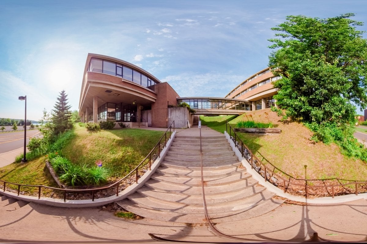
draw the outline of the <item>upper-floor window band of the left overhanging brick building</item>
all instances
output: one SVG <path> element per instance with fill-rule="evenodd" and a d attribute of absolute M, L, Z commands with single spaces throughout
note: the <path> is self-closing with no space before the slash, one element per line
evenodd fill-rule
<path fill-rule="evenodd" d="M 158 83 L 133 68 L 104 59 L 92 58 L 89 63 L 88 71 L 119 76 L 153 91 L 154 85 Z"/>

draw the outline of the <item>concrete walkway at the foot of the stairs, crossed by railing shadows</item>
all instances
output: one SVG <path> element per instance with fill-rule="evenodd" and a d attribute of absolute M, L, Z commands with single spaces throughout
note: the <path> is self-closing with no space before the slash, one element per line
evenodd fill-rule
<path fill-rule="evenodd" d="M 366 203 L 283 204 L 259 217 L 217 224 L 216 228 L 227 235 L 254 240 L 306 240 L 317 232 L 327 240 L 366 241 Z M 159 243 L 148 233 L 172 240 L 236 242 L 214 236 L 206 224 L 124 220 L 98 208 L 70 209 L 37 203 L 19 208 L 14 204 L 5 202 L 0 207 L 0 243 Z"/>

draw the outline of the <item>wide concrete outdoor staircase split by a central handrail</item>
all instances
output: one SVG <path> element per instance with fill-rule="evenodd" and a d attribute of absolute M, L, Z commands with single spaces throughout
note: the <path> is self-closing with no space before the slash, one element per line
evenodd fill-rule
<path fill-rule="evenodd" d="M 202 138 L 204 189 L 213 222 L 257 217 L 283 200 L 252 179 L 225 136 Z M 205 222 L 200 170 L 200 138 L 177 135 L 164 161 L 149 181 L 127 199 L 124 209 L 163 221 Z"/>

